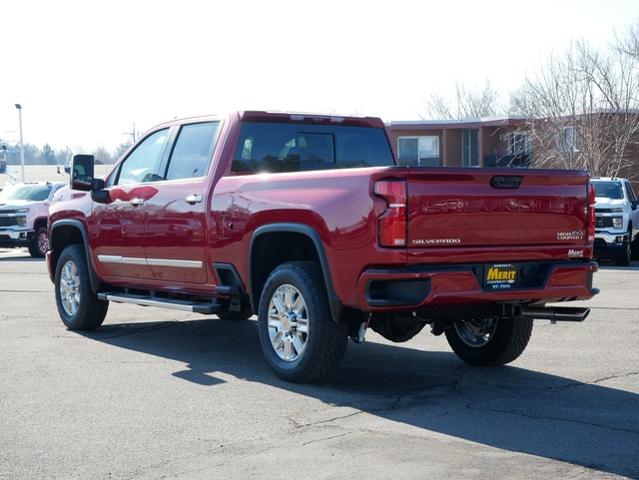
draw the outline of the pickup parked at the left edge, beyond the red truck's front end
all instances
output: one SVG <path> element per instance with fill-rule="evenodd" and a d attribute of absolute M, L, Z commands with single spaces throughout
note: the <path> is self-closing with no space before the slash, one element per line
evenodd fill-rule
<path fill-rule="evenodd" d="M 49 205 L 64 185 L 38 182 L 6 186 L 0 192 L 0 247 L 28 247 L 32 257 L 44 257 Z"/>

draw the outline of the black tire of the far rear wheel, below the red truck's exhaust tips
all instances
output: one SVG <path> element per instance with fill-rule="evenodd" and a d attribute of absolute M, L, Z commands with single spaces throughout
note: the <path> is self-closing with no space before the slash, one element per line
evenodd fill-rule
<path fill-rule="evenodd" d="M 505 365 L 518 358 L 528 345 L 532 319 L 498 319 L 495 332 L 483 346 L 470 346 L 457 329 L 446 330 L 448 344 L 464 362 L 477 366 Z"/>

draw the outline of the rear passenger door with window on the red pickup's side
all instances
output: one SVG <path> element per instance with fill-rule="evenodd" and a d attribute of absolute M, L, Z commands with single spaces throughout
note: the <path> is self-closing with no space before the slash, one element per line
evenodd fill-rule
<path fill-rule="evenodd" d="M 207 278 L 206 240 L 209 170 L 219 122 L 179 126 L 165 181 L 146 202 L 146 258 L 156 279 L 214 285 Z M 171 283 L 172 282 L 172 283 Z"/>

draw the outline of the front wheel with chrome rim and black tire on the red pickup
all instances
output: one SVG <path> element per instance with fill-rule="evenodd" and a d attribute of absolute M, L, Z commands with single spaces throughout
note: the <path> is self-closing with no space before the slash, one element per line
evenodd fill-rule
<path fill-rule="evenodd" d="M 55 302 L 60 319 L 69 330 L 95 330 L 104 321 L 109 302 L 99 300 L 93 293 L 81 245 L 69 245 L 58 258 Z"/>

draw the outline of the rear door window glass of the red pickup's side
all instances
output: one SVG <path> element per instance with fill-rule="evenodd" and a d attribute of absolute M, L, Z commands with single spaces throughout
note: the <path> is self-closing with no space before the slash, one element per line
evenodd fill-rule
<path fill-rule="evenodd" d="M 206 175 L 213 155 L 218 126 L 219 122 L 182 126 L 169 160 L 167 180 Z"/>

